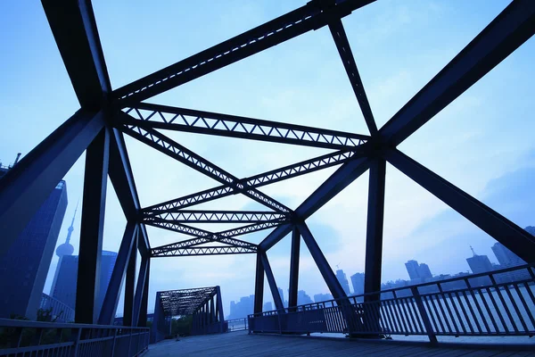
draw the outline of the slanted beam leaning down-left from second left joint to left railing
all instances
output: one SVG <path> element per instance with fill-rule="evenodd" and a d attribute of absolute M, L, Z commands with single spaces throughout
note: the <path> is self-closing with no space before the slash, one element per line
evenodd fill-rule
<path fill-rule="evenodd" d="M 99 325 L 113 325 L 115 318 L 115 311 L 117 311 L 117 304 L 119 303 L 120 290 L 127 272 L 128 261 L 130 260 L 130 253 L 137 235 L 136 221 L 128 221 L 125 233 L 122 237 L 119 247 L 119 254 L 111 273 L 110 284 L 104 296 L 103 308 L 98 318 Z"/>

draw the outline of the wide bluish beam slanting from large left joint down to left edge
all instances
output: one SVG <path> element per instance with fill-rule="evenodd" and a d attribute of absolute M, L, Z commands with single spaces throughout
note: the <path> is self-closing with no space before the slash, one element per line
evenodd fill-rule
<path fill-rule="evenodd" d="M 103 112 L 79 110 L 5 173 L 0 185 L 0 256 L 103 128 Z"/>

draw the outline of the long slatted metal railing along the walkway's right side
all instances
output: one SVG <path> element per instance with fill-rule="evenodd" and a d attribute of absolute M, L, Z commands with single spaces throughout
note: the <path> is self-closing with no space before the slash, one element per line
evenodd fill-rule
<path fill-rule="evenodd" d="M 249 330 L 426 335 L 432 342 L 436 336 L 534 336 L 534 266 L 253 314 Z"/>

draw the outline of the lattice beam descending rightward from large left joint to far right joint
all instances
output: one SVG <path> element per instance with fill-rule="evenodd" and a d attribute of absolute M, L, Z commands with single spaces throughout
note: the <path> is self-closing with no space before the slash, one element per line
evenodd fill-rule
<path fill-rule="evenodd" d="M 123 113 L 122 115 L 126 114 Z M 239 190 L 240 193 L 250 197 L 254 201 L 262 203 L 278 212 L 291 212 L 291 210 L 284 206 L 283 203 L 279 203 L 268 195 L 264 195 L 256 188 L 243 185 L 239 179 L 226 172 L 226 170 L 219 168 L 217 165 L 202 158 L 200 155 L 194 154 L 191 150 L 186 149 L 184 146 L 178 144 L 171 138 L 166 137 L 154 129 L 146 129 L 130 125 L 121 126 L 120 129 L 129 136 L 136 138 L 137 140 L 151 146 L 163 154 L 169 155 L 177 161 L 191 167 L 193 170 L 202 172 L 203 174 L 221 182 L 226 186 L 234 187 L 236 190 Z"/>

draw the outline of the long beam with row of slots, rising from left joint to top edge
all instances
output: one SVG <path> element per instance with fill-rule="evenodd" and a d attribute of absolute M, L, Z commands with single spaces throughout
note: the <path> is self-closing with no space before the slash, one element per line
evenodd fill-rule
<path fill-rule="evenodd" d="M 340 19 L 373 2 L 374 0 L 339 0 L 325 11 L 322 1 L 310 1 L 275 20 L 120 87 L 113 91 L 113 95 L 123 107 L 139 103 L 309 30 L 319 29 L 331 19 Z"/>

